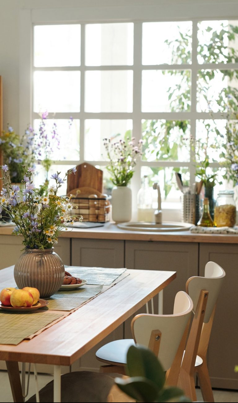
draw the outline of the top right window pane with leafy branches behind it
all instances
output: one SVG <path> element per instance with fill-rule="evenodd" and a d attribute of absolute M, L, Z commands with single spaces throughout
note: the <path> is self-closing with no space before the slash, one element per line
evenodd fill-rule
<path fill-rule="evenodd" d="M 197 37 L 200 64 L 238 62 L 238 21 L 202 21 Z"/>

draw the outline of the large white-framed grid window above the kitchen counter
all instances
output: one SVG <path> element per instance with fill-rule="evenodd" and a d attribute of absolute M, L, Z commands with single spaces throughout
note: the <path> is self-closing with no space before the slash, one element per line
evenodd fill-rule
<path fill-rule="evenodd" d="M 162 208 L 179 208 L 174 172 L 195 182 L 195 158 L 203 158 L 197 145 L 206 143 L 208 129 L 210 166 L 219 166 L 222 138 L 215 128 L 224 130 L 227 89 L 237 86 L 232 26 L 238 21 L 35 24 L 32 119 L 37 128 L 39 112 L 47 110 L 47 124 L 57 123 L 51 172 L 88 161 L 103 169 L 110 193 L 103 139 L 132 135 L 144 140 L 133 193 L 147 174 L 150 184 L 160 183 Z"/>

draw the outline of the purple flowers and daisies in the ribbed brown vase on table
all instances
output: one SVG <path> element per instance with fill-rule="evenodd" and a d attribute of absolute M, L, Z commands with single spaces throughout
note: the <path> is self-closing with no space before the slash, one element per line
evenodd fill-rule
<path fill-rule="evenodd" d="M 25 170 L 22 183 L 25 185 L 23 195 L 19 195 L 20 188 L 11 185 L 9 168 L 0 166 L 4 187 L 0 197 L 0 212 L 8 212 L 12 221 L 16 224 L 13 230 L 15 235 L 23 235 L 23 245 L 31 249 L 48 249 L 57 243 L 59 232 L 65 228 L 66 223 L 73 224 L 75 216 L 70 215 L 73 207 L 71 197 L 57 196 L 57 190 L 66 180 L 68 174 L 76 172 L 72 168 L 66 173 L 64 179 L 59 177 L 60 172 L 53 174 L 55 185 L 49 189 L 49 195 L 40 197 L 35 193 L 35 185 L 31 180 L 33 168 Z M 77 208 L 75 206 L 75 208 Z M 78 217 L 82 220 L 82 216 Z"/>

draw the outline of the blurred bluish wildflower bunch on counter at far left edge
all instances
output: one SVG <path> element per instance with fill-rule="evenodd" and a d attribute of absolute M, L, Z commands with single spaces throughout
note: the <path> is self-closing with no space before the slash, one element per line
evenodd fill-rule
<path fill-rule="evenodd" d="M 8 125 L 7 131 L 3 131 L 0 137 L 0 150 L 9 169 L 10 181 L 20 183 L 24 176 L 23 165 L 32 166 L 35 159 L 33 129 L 29 126 L 20 137 Z"/>

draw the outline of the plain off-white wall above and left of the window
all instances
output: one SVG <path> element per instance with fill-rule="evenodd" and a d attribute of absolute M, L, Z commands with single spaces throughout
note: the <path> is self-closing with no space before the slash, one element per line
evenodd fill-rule
<path fill-rule="evenodd" d="M 0 0 L 0 75 L 3 79 L 3 125 L 10 123 L 19 129 L 19 41 L 21 10 L 31 10 L 32 21 L 36 18 L 51 21 L 55 14 L 72 19 L 77 10 L 88 21 L 108 21 L 110 18 L 130 20 L 136 18 L 158 19 L 189 16 L 213 18 L 238 18 L 238 0 Z M 56 10 L 55 10 L 56 9 Z M 58 11 L 58 12 L 57 12 Z M 57 18 L 57 17 L 56 17 Z M 29 87 L 25 90 L 28 91 Z M 27 95 L 27 98 L 29 96 Z M 29 111 L 30 118 L 30 111 Z M 25 122 L 24 126 L 26 127 Z"/>

